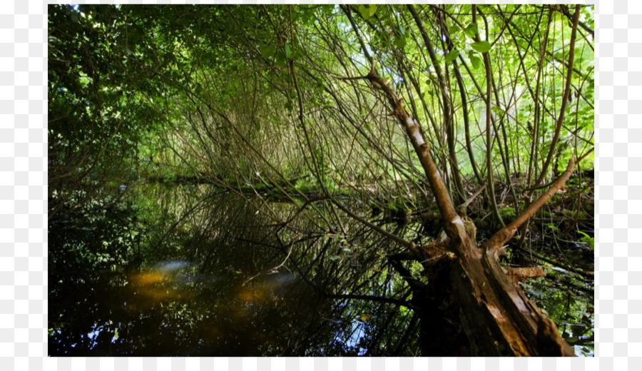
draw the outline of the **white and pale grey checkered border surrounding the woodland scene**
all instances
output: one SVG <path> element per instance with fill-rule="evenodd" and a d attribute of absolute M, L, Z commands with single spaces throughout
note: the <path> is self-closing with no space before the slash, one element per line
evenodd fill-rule
<path fill-rule="evenodd" d="M 147 4 L 161 2 L 186 1 Z M 578 359 L 47 357 L 46 12 L 41 1 L 0 3 L 0 370 L 628 370 L 642 360 L 642 1 L 596 3 L 597 357 Z"/>

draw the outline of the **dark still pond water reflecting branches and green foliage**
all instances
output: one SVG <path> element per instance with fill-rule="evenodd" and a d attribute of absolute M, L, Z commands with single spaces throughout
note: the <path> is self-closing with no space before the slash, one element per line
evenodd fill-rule
<path fill-rule="evenodd" d="M 394 302 L 409 300 L 384 258 L 394 245 L 349 218 L 330 230 L 322 203 L 262 202 L 148 185 L 58 213 L 49 355 L 419 355 L 418 318 Z M 426 232 L 385 221 L 407 238 Z M 419 277 L 418 264 L 408 268 Z M 569 322 L 569 338 L 592 340 L 592 295 L 546 281 L 528 290 Z M 578 354 L 591 354 L 589 342 Z"/>

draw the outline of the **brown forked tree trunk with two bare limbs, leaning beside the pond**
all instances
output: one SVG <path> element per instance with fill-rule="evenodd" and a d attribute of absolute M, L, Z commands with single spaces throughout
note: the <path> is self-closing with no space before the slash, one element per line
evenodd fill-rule
<path fill-rule="evenodd" d="M 364 78 L 384 92 L 392 114 L 406 129 L 437 199 L 448 236 L 442 244 L 413 244 L 411 248 L 429 279 L 429 285 L 414 288 L 413 295 L 422 319 L 424 355 L 574 355 L 555 324 L 511 283 L 498 263 L 504 243 L 564 185 L 573 172 L 574 161 L 522 215 L 478 247 L 455 211 L 429 145 L 419 125 L 404 110 L 402 99 L 378 75 L 374 61 Z"/>

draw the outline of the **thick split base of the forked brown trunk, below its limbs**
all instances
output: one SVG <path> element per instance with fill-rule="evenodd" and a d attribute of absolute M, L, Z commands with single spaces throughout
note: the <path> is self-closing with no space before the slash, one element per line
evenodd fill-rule
<path fill-rule="evenodd" d="M 454 248 L 454 246 L 449 246 Z M 472 240 L 466 253 L 424 264 L 429 285 L 417 303 L 422 355 L 573 356 L 571 347 L 504 273 L 491 250 Z"/>

